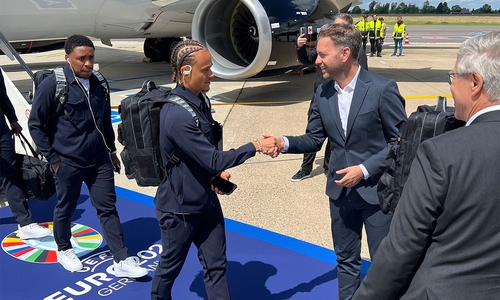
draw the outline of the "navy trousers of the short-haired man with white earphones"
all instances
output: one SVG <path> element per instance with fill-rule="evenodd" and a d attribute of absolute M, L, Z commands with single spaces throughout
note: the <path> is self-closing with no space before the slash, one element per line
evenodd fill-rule
<path fill-rule="evenodd" d="M 89 189 L 90 201 L 97 211 L 104 239 L 116 262 L 128 257 L 120 217 L 116 210 L 115 177 L 111 163 L 77 168 L 61 162 L 56 180 L 57 204 L 54 209 L 54 239 L 59 251 L 72 248 L 71 218 L 80 198 L 82 182 Z"/>

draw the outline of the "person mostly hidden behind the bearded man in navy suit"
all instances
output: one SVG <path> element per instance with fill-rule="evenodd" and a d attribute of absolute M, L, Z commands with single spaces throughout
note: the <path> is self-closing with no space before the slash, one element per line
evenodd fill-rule
<path fill-rule="evenodd" d="M 335 24 L 352 25 L 352 22 L 353 22 L 352 17 L 346 13 L 338 14 L 333 20 L 333 23 Z M 318 57 L 318 51 L 316 47 L 306 50 L 306 47 L 304 47 L 306 43 L 307 43 L 307 38 L 305 37 L 305 34 L 302 34 L 297 38 L 297 57 L 299 58 L 299 61 L 301 63 L 309 65 L 313 64 L 316 61 L 316 58 Z M 366 53 L 363 48 L 359 49 L 358 64 L 365 70 L 368 70 L 368 59 L 366 58 Z M 328 78 L 323 78 L 321 69 L 319 68 L 319 66 L 316 66 L 316 80 L 314 82 L 314 93 L 316 93 L 316 90 L 318 89 L 318 86 L 320 84 L 328 80 L 329 80 Z M 308 118 L 311 115 L 311 107 L 313 104 L 314 104 L 314 94 L 313 97 L 311 98 L 311 104 L 309 105 L 309 110 L 307 111 Z M 328 163 L 330 162 L 331 151 L 329 145 L 330 144 L 326 145 L 325 158 L 323 160 L 323 169 L 325 170 L 324 171 L 325 175 L 328 173 Z M 300 166 L 299 171 L 297 171 L 297 173 L 295 173 L 295 175 L 292 176 L 292 181 L 294 182 L 301 181 L 302 179 L 311 176 L 315 158 L 316 158 L 315 152 L 304 154 L 304 158 L 302 159 L 302 165 Z"/>

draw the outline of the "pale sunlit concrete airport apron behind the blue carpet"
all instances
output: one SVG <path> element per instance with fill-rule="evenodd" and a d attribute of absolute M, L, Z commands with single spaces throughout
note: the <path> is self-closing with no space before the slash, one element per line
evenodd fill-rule
<path fill-rule="evenodd" d="M 96 63 L 109 80 L 115 108 L 126 95 L 137 92 L 145 79 L 173 86 L 169 64 L 142 62 L 142 41 L 113 41 L 113 49 L 95 42 Z M 446 73 L 454 66 L 458 47 L 459 43 L 409 44 L 404 45 L 402 57 L 391 57 L 392 45 L 386 44 L 382 57 L 368 58 L 369 70 L 396 80 L 410 114 L 418 105 L 435 104 L 438 96 L 451 98 Z M 33 71 L 64 62 L 62 50 L 22 57 Z M 17 62 L 0 56 L 0 65 L 23 95 L 31 90 L 31 80 Z M 303 134 L 315 76 L 294 67 L 241 81 L 215 78 L 208 95 L 214 118 L 224 126 L 224 149 L 237 148 L 265 133 Z M 453 105 L 451 99 L 448 105 Z M 116 146 L 120 152 L 118 141 Z M 333 249 L 323 153 L 316 156 L 312 177 L 300 182 L 290 181 L 302 162 L 297 154 L 275 159 L 257 154 L 228 170 L 238 188 L 220 197 L 225 217 Z M 138 187 L 123 172 L 115 179 L 119 187 L 155 195 L 155 187 Z M 362 257 L 369 260 L 365 241 Z"/>

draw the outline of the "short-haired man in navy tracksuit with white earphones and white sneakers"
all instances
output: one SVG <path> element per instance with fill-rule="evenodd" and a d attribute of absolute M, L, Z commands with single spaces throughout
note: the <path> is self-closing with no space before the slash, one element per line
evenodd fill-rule
<path fill-rule="evenodd" d="M 56 82 L 50 75 L 35 92 L 28 121 L 31 136 L 51 164 L 56 180 L 53 229 L 58 262 L 68 271 L 83 268 L 71 243 L 71 218 L 85 182 L 114 258 L 115 276 L 142 277 L 148 271 L 138 266 L 137 257 L 129 257 L 116 210 L 113 166 L 119 168 L 120 161 L 109 94 L 92 73 L 94 45 L 85 36 L 73 35 L 66 40 L 65 52 L 67 102 L 63 110 L 57 112 Z"/>

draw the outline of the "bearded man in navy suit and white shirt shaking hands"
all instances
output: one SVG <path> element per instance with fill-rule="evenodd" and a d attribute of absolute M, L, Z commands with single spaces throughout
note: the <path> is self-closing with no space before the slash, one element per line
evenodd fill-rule
<path fill-rule="evenodd" d="M 341 300 L 351 299 L 359 285 L 363 224 L 372 258 L 389 232 L 391 216 L 380 211 L 376 187 L 396 124 L 406 120 L 396 82 L 361 68 L 360 47 L 361 33 L 351 25 L 321 28 L 316 65 L 333 80 L 318 87 L 306 134 L 275 136 L 278 151 L 287 153 L 315 152 L 329 139 L 326 194 Z"/>

